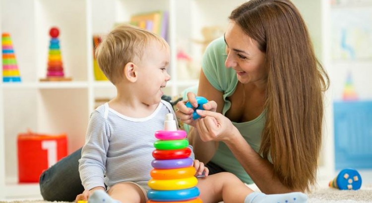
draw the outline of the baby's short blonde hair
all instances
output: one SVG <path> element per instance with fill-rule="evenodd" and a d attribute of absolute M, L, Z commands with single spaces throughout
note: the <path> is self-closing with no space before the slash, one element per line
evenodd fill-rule
<path fill-rule="evenodd" d="M 162 37 L 152 32 L 131 25 L 119 25 L 97 47 L 95 54 L 98 65 L 106 77 L 115 84 L 123 77 L 125 64 L 141 60 L 146 46 L 152 40 L 168 47 Z"/>

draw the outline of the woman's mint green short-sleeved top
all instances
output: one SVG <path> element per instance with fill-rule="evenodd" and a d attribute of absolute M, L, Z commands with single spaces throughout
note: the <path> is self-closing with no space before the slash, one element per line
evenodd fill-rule
<path fill-rule="evenodd" d="M 228 97 L 234 93 L 238 84 L 235 70 L 225 67 L 226 58 L 226 44 L 224 38 L 221 37 L 210 43 L 202 60 L 202 69 L 205 77 L 214 88 L 223 92 L 223 99 L 225 101 L 222 109 L 223 115 L 225 115 L 231 107 L 231 102 L 228 100 Z M 265 114 L 264 110 L 258 117 L 251 121 L 243 123 L 233 122 L 234 126 L 237 127 L 244 139 L 256 152 L 259 151 L 261 143 L 261 132 L 266 121 Z M 226 171 L 235 174 L 243 182 L 248 184 L 253 183 L 252 179 L 248 176 L 247 172 L 225 143 L 219 143 L 218 150 L 211 161 L 221 166 Z"/>

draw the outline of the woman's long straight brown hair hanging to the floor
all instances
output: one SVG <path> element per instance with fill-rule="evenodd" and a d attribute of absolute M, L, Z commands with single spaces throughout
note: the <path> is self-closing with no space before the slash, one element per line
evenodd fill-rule
<path fill-rule="evenodd" d="M 329 78 L 316 59 L 309 33 L 289 0 L 250 0 L 230 20 L 266 53 L 266 124 L 260 153 L 291 189 L 315 184 L 321 147 L 323 91 Z"/>

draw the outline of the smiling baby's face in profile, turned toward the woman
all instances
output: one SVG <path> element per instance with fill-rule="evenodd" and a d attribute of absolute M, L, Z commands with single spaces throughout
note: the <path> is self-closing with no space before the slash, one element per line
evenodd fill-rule
<path fill-rule="evenodd" d="M 159 103 L 163 96 L 162 89 L 171 79 L 167 69 L 169 67 L 170 52 L 157 41 L 146 46 L 138 66 L 137 87 L 141 101 L 150 105 Z"/>

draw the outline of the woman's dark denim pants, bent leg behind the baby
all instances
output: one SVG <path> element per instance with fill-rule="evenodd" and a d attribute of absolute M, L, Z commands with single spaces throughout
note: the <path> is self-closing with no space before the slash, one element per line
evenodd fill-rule
<path fill-rule="evenodd" d="M 77 195 L 84 191 L 79 175 L 81 148 L 64 157 L 45 170 L 40 176 L 40 193 L 46 201 L 74 202 Z M 208 162 L 209 174 L 224 172 L 215 163 Z"/>

